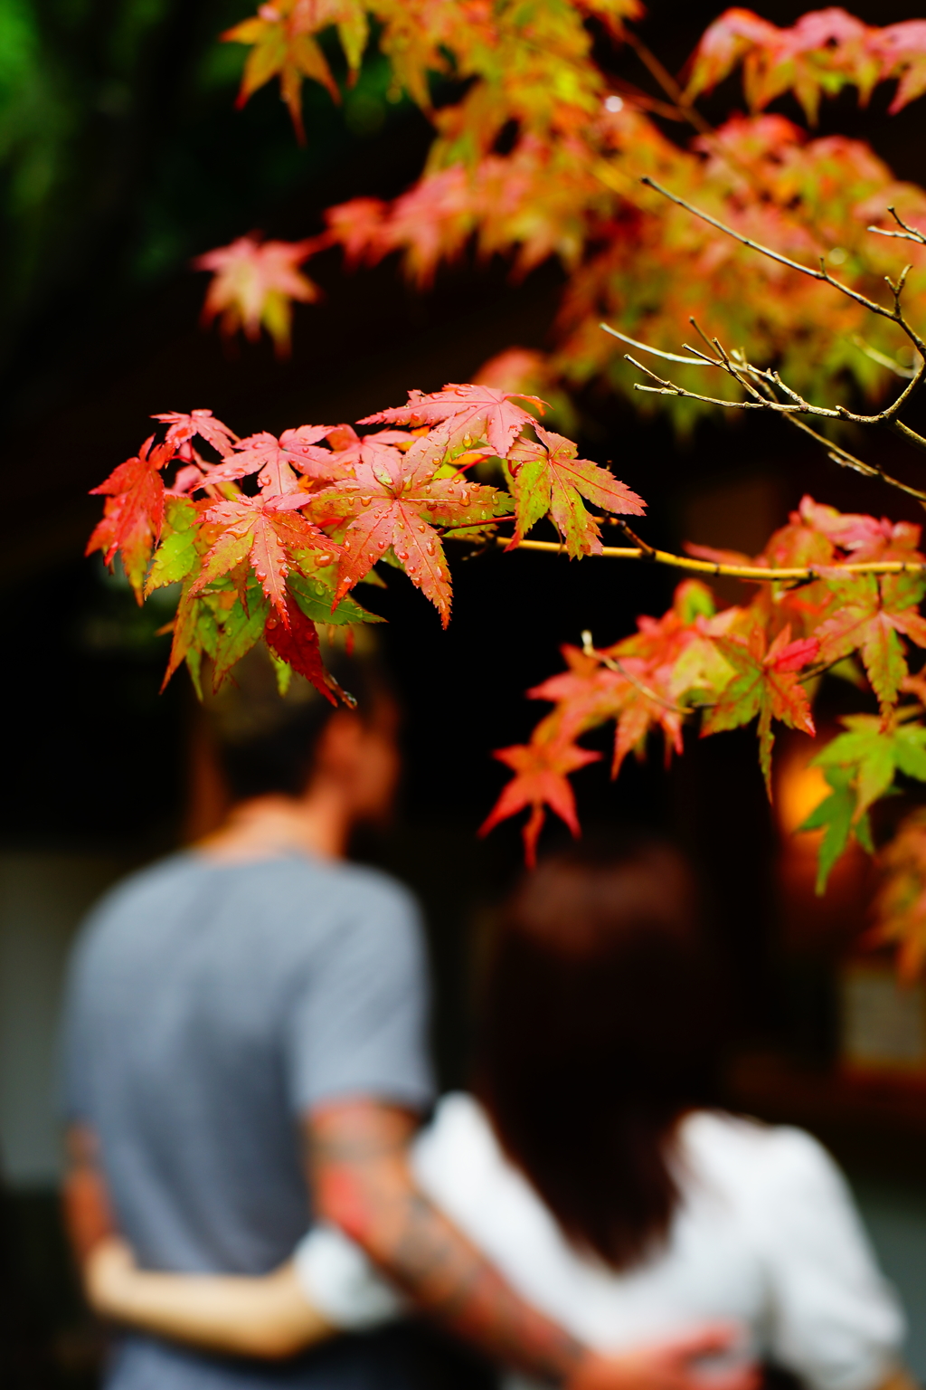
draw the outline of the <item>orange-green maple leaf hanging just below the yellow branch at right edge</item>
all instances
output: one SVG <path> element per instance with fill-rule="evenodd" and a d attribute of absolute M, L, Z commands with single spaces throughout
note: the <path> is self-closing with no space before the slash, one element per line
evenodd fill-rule
<path fill-rule="evenodd" d="M 890 589 L 889 589 L 890 594 Z M 898 632 L 918 646 L 926 646 L 926 619 L 915 602 L 907 607 L 884 606 L 884 589 L 873 574 L 844 581 L 837 591 L 837 606 L 818 631 L 820 660 L 832 664 L 859 651 L 872 689 L 882 710 L 887 712 L 907 676 L 907 657 Z"/>

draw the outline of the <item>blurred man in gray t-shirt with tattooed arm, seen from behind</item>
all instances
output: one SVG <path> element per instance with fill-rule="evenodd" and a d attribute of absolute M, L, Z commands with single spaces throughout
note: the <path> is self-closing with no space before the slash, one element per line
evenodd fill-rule
<path fill-rule="evenodd" d="M 117 887 L 81 934 L 65 1047 L 78 1255 L 118 1233 L 150 1272 L 257 1276 L 326 1218 L 419 1308 L 500 1359 L 573 1390 L 691 1390 L 691 1357 L 722 1333 L 596 1355 L 415 1184 L 407 1147 L 432 1099 L 418 909 L 344 858 L 354 827 L 392 802 L 397 710 L 369 662 L 332 664 L 355 710 L 298 678 L 280 699 L 262 649 L 236 667 L 208 702 L 226 823 Z M 271 1276 L 273 1291 L 286 1297 L 286 1276 Z M 158 1334 L 169 1327 L 131 1332 L 108 1390 L 414 1383 L 389 1327 L 335 1337 L 332 1319 L 304 1301 L 301 1312 L 301 1340 L 290 1327 L 239 1340 L 232 1357 L 182 1346 L 182 1329 L 172 1341 Z M 748 1386 L 733 1372 L 723 1390 Z"/>

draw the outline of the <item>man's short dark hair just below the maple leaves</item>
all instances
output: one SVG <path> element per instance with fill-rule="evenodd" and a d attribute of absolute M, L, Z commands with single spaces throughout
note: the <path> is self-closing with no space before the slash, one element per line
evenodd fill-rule
<path fill-rule="evenodd" d="M 390 699 L 387 682 L 371 651 L 348 656 L 342 646 L 323 649 L 326 670 L 371 721 Z M 303 676 L 292 674 L 285 694 L 264 646 L 251 648 L 221 689 L 205 698 L 205 714 L 218 764 L 233 801 L 279 792 L 298 796 L 310 780 L 315 751 L 337 708 Z"/>

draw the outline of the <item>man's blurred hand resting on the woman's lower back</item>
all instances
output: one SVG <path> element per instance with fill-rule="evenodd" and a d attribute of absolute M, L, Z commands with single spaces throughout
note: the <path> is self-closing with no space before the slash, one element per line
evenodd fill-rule
<path fill-rule="evenodd" d="M 740 1336 L 739 1327 L 723 1325 L 619 1355 L 591 1352 L 569 1377 L 566 1390 L 757 1390 L 759 1372 L 754 1362 L 722 1369 L 698 1365 L 702 1357 L 730 1351 Z"/>

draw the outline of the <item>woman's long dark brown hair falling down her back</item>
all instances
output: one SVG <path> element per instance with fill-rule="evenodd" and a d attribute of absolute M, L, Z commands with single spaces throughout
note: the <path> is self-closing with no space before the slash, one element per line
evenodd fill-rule
<path fill-rule="evenodd" d="M 655 842 L 546 860 L 489 963 L 478 1093 L 579 1247 L 626 1268 L 679 1200 L 675 1130 L 714 1099 L 709 952 L 680 856 Z"/>

